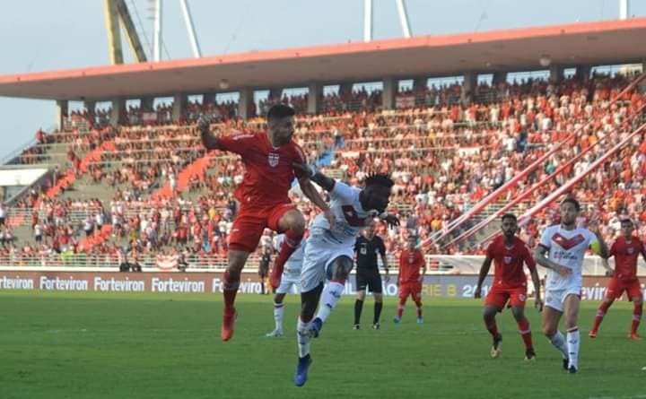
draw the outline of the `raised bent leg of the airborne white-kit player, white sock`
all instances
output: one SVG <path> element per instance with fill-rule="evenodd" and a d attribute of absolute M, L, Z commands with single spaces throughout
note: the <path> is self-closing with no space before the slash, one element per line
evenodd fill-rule
<path fill-rule="evenodd" d="M 310 334 L 313 336 L 319 336 L 323 323 L 326 322 L 332 309 L 336 308 L 336 303 L 345 290 L 345 280 L 352 271 L 353 265 L 354 262 L 350 257 L 338 256 L 327 266 L 329 282 L 323 289 L 319 312 L 310 325 Z"/>

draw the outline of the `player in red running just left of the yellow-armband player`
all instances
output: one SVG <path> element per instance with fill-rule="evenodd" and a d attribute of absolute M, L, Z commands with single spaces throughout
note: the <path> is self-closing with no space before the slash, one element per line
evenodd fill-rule
<path fill-rule="evenodd" d="M 496 313 L 502 312 L 505 304 L 509 301 L 511 314 L 519 326 L 519 333 L 525 343 L 525 360 L 535 360 L 536 352 L 531 339 L 529 321 L 525 317 L 525 300 L 527 299 L 527 277 L 523 271 L 523 263 L 528 266 L 532 282 L 536 289 L 536 302 L 534 306 L 539 311 L 543 309 L 543 302 L 540 298 L 540 280 L 536 269 L 536 263 L 529 251 L 527 244 L 516 237 L 518 221 L 516 216 L 506 213 L 502 216 L 502 236 L 494 239 L 486 250 L 485 261 L 480 268 L 476 291 L 474 297 L 481 298 L 482 284 L 489 273 L 492 261 L 495 265 L 493 283 L 491 290 L 485 299 L 486 329 L 492 334 L 493 345 L 491 349 L 492 358 L 500 356 L 502 335 L 498 332 L 495 317 Z"/>

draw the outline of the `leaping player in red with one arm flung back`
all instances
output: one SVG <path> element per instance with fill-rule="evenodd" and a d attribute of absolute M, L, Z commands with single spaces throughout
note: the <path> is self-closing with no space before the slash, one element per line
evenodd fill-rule
<path fill-rule="evenodd" d="M 202 143 L 207 150 L 222 150 L 240 155 L 245 165 L 242 183 L 235 196 L 240 202 L 240 212 L 233 221 L 229 237 L 229 266 L 224 273 L 224 311 L 221 338 L 229 341 L 233 335 L 236 311 L 233 307 L 240 286 L 240 272 L 249 254 L 256 251 L 263 230 L 284 233 L 284 243 L 276 256 L 271 283 L 277 287 L 285 261 L 299 247 L 305 231 L 305 219 L 290 203 L 289 192 L 294 177 L 298 178 L 303 195 L 316 204 L 331 225 L 331 213 L 310 178 L 292 163 L 305 163 L 301 147 L 292 141 L 294 110 L 282 104 L 267 112 L 267 131 L 253 134 L 214 136 L 204 118 L 198 121 Z"/>

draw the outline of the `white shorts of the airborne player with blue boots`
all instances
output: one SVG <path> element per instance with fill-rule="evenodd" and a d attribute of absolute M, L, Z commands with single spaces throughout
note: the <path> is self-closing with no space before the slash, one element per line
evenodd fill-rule
<path fill-rule="evenodd" d="M 325 282 L 327 266 L 331 265 L 339 256 L 354 256 L 352 246 L 330 244 L 318 239 L 309 239 L 305 247 L 305 258 L 301 271 L 301 292 L 309 292 Z"/>

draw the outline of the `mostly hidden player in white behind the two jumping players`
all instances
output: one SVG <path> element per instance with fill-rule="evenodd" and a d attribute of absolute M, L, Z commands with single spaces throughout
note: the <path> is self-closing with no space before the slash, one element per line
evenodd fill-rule
<path fill-rule="evenodd" d="M 284 234 L 279 234 L 274 240 L 274 247 L 276 251 L 279 251 L 283 245 L 285 239 Z M 275 291 L 274 297 L 274 321 L 275 328 L 274 331 L 267 333 L 266 337 L 281 337 L 283 336 L 283 314 L 284 314 L 284 304 L 283 300 L 285 295 L 288 292 L 296 291 L 298 293 L 301 286 L 301 267 L 303 256 L 305 256 L 305 240 L 303 239 L 292 253 L 292 255 L 287 259 L 287 263 L 284 265 L 283 274 L 281 275 L 281 282 L 278 288 Z"/>

